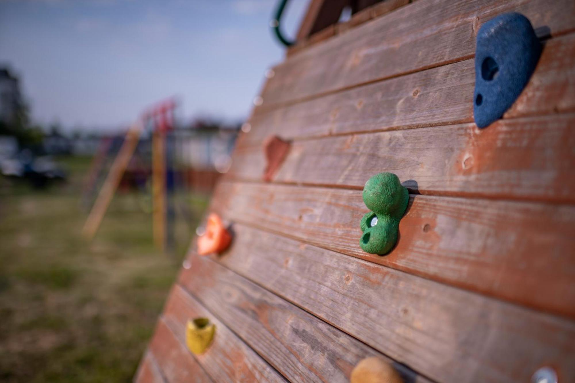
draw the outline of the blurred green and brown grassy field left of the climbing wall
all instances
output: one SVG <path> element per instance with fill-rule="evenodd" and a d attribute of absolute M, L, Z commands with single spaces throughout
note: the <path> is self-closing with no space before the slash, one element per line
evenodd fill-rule
<path fill-rule="evenodd" d="M 177 220 L 171 261 L 152 244 L 149 199 L 117 194 L 87 244 L 89 159 L 64 166 L 68 181 L 44 191 L 0 179 L 0 381 L 131 381 L 196 222 Z M 197 220 L 206 200 L 188 202 Z"/>

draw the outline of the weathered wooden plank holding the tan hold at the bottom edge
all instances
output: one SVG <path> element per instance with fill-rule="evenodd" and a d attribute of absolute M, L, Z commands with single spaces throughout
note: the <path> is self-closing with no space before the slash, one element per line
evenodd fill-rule
<path fill-rule="evenodd" d="M 211 259 L 191 256 L 189 261 L 190 269 L 182 270 L 179 283 L 290 382 L 347 383 L 361 359 L 379 355 L 389 361 Z"/>

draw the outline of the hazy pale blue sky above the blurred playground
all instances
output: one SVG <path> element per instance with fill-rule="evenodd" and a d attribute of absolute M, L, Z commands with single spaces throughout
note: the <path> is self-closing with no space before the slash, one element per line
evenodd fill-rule
<path fill-rule="evenodd" d="M 0 0 L 0 64 L 22 79 L 32 117 L 66 129 L 117 129 L 177 95 L 180 115 L 247 117 L 284 48 L 276 0 Z M 293 36 L 306 0 L 291 0 Z"/>

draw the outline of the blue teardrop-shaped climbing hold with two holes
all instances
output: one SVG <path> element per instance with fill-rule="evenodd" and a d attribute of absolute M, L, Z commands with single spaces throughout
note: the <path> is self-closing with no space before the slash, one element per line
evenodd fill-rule
<path fill-rule="evenodd" d="M 503 116 L 529 82 L 541 43 L 527 17 L 504 13 L 481 25 L 475 52 L 473 116 L 485 128 Z"/>

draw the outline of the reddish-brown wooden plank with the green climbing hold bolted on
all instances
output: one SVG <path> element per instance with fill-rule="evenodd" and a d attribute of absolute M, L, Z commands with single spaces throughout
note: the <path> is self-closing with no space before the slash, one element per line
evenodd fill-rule
<path fill-rule="evenodd" d="M 361 190 L 224 182 L 212 210 L 232 223 L 575 318 L 575 206 L 412 196 L 387 256 L 359 247 L 368 211 Z"/>

